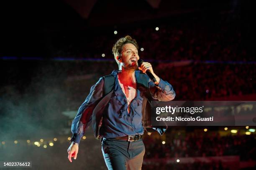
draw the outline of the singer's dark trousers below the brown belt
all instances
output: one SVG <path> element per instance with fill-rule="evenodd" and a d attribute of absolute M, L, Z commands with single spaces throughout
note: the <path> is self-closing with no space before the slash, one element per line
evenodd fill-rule
<path fill-rule="evenodd" d="M 145 146 L 142 139 L 128 142 L 103 138 L 102 154 L 108 170 L 141 170 Z"/>

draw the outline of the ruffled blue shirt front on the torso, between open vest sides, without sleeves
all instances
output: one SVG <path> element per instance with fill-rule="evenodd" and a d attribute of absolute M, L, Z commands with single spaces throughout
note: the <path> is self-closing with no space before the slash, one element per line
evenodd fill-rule
<path fill-rule="evenodd" d="M 100 136 L 104 138 L 116 138 L 126 135 L 143 135 L 141 112 L 143 90 L 139 90 L 141 87 L 136 88 L 137 95 L 131 100 L 131 112 L 128 113 L 127 99 L 118 82 L 118 76 L 116 76 L 117 71 L 113 71 L 112 74 L 115 77 L 114 93 L 110 98 L 102 119 Z"/>

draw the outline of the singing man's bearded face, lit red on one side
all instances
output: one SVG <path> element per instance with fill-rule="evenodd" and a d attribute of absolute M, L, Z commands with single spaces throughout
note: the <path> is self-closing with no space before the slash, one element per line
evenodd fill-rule
<path fill-rule="evenodd" d="M 139 58 L 138 50 L 135 45 L 131 43 L 123 45 L 121 62 L 125 69 L 137 70 Z"/>

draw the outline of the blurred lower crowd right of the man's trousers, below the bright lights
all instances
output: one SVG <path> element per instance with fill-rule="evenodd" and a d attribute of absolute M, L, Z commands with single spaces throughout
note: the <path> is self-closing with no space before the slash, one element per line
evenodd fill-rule
<path fill-rule="evenodd" d="M 255 135 L 225 135 L 219 133 L 166 133 L 163 139 L 144 135 L 144 158 L 182 158 L 239 155 L 240 160 L 256 160 Z"/>

